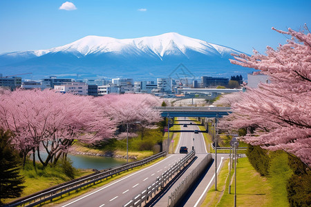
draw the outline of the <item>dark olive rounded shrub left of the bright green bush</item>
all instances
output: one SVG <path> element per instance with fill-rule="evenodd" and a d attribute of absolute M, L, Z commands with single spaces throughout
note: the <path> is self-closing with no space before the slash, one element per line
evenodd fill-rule
<path fill-rule="evenodd" d="M 267 155 L 267 150 L 262 149 L 260 146 L 248 145 L 246 156 L 250 164 L 262 176 L 267 176 L 269 170 L 270 157 Z"/>

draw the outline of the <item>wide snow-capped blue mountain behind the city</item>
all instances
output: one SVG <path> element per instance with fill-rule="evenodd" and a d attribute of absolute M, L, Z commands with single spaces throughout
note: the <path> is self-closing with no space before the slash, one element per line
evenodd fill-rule
<path fill-rule="evenodd" d="M 165 77 L 183 63 L 196 76 L 230 76 L 236 68 L 241 70 L 229 63 L 231 53 L 239 52 L 175 32 L 135 39 L 87 36 L 48 50 L 2 54 L 0 73 L 32 72 L 35 77 L 88 74 L 140 79 L 147 75 Z M 238 73 L 245 73 L 243 70 Z"/>

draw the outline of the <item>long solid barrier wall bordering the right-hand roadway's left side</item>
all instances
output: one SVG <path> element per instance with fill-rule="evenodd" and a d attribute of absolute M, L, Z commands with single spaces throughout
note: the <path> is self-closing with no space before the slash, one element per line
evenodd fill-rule
<path fill-rule="evenodd" d="M 190 174 L 179 184 L 177 188 L 169 196 L 169 207 L 177 206 L 182 197 L 187 194 L 187 191 L 194 185 L 196 180 L 200 177 L 202 172 L 207 168 L 211 162 L 211 154 L 208 154 L 200 161 L 200 164 L 190 172 Z"/>

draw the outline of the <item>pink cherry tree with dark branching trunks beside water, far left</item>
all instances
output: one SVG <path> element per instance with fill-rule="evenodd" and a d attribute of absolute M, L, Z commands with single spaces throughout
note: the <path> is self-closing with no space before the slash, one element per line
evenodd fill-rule
<path fill-rule="evenodd" d="M 24 161 L 32 150 L 44 166 L 54 163 L 75 141 L 94 143 L 111 137 L 115 124 L 90 97 L 53 90 L 15 90 L 0 95 L 1 127 L 10 129 Z M 48 153 L 46 160 L 41 149 Z M 33 156 L 35 165 L 35 156 Z"/>

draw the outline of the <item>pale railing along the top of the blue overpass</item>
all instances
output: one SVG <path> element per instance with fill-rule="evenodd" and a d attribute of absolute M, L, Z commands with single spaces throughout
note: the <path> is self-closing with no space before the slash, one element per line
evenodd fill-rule
<path fill-rule="evenodd" d="M 230 107 L 192 107 L 192 106 L 161 106 L 153 107 L 160 111 L 232 111 Z"/>

